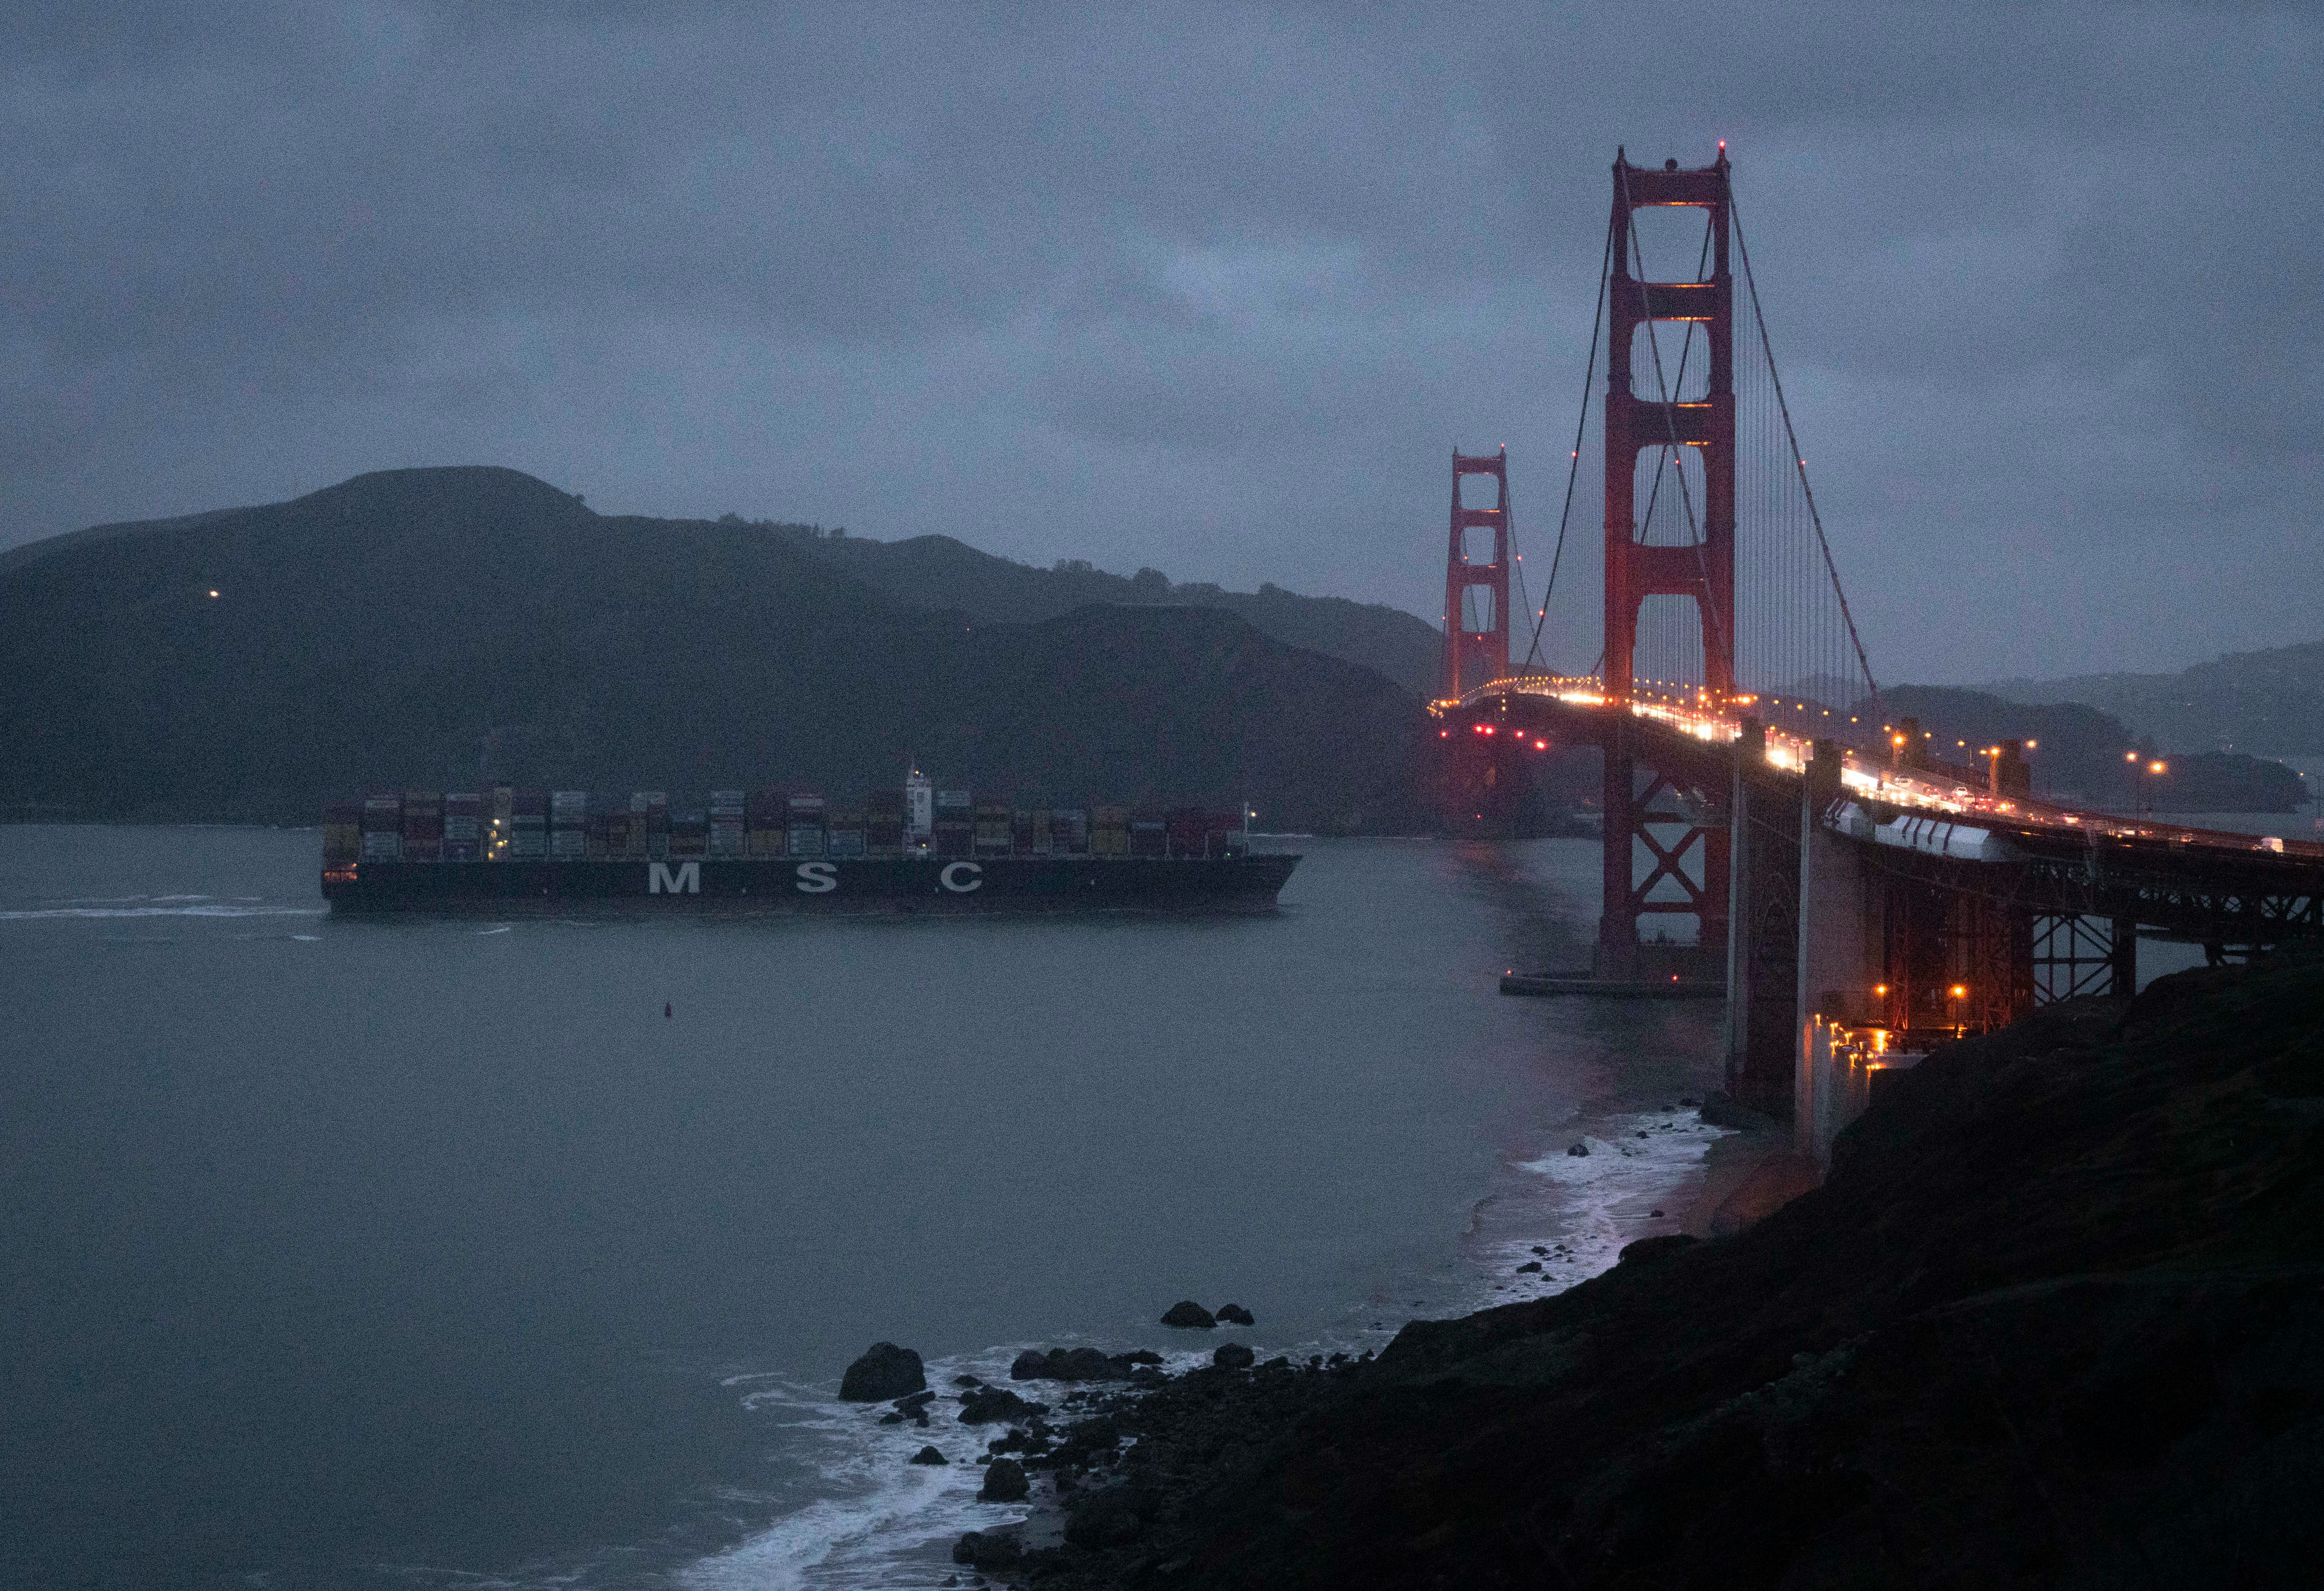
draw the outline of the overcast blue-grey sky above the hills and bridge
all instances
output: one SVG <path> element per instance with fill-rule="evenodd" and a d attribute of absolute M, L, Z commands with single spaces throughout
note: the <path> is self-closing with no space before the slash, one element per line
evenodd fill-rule
<path fill-rule="evenodd" d="M 1541 567 L 1615 146 L 1724 137 L 1885 681 L 2312 641 L 2319 39 L 2317 5 L 30 5 L 0 546 L 495 462 L 1434 618 L 1455 444 L 1508 444 Z"/>

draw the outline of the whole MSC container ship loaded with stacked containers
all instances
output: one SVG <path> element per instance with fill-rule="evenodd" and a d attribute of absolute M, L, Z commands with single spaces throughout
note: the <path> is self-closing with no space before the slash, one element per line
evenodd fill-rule
<path fill-rule="evenodd" d="M 1255 855 L 1243 813 L 1018 806 L 937 790 L 832 804 L 811 790 L 493 785 L 374 792 L 323 813 L 335 908 L 648 899 L 741 906 L 1274 906 L 1297 855 Z"/>

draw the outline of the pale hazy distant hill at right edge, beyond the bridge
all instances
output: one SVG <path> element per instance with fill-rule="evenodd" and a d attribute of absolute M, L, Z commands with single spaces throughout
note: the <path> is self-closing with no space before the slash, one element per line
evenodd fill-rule
<path fill-rule="evenodd" d="M 2013 701 L 2087 701 L 2180 750 L 2324 753 L 2324 641 L 2226 653 L 2182 674 L 1994 681 Z"/>

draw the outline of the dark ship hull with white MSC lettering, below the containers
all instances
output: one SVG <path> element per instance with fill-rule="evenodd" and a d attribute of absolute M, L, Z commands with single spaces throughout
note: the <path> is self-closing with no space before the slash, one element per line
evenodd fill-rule
<path fill-rule="evenodd" d="M 1294 855 L 1164 857 L 706 857 L 688 862 L 360 862 L 325 871 L 346 910 L 460 910 L 555 901 L 655 908 L 1267 908 Z"/>

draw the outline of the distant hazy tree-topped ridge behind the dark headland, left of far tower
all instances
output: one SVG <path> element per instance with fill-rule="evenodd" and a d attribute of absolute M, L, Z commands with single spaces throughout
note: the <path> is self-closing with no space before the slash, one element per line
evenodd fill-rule
<path fill-rule="evenodd" d="M 1385 674 L 1422 701 L 1436 694 L 1443 664 L 1443 636 L 1432 625 L 1376 602 L 1299 597 L 1281 585 L 1255 592 L 1174 585 L 1157 569 L 1120 576 L 1078 560 L 1034 569 L 951 537 L 806 537 L 804 546 L 897 602 L 960 609 L 988 622 L 1034 622 L 1092 602 L 1225 609 L 1278 641 Z"/>

